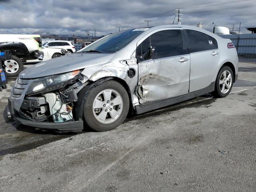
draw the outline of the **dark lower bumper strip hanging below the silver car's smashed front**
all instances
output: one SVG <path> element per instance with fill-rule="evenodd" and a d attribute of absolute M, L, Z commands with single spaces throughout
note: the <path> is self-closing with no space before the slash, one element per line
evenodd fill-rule
<path fill-rule="evenodd" d="M 18 112 L 14 111 L 12 98 L 8 98 L 8 106 L 9 110 L 14 117 L 14 119 L 20 122 L 23 125 L 36 127 L 45 130 L 55 130 L 55 131 L 64 131 L 64 132 L 82 132 L 84 128 L 83 121 L 73 121 L 73 122 L 62 122 L 62 123 L 54 123 L 54 122 L 38 122 L 32 121 L 28 118 L 23 118 L 18 114 Z"/>

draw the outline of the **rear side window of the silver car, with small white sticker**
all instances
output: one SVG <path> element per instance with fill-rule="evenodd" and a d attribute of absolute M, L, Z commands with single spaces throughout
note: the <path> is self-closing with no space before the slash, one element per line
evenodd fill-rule
<path fill-rule="evenodd" d="M 188 36 L 187 45 L 190 53 L 218 48 L 217 41 L 213 37 L 195 30 L 186 30 L 186 32 Z"/>

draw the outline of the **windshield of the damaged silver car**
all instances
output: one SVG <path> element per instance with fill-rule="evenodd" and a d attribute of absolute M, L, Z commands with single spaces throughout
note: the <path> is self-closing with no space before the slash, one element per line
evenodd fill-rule
<path fill-rule="evenodd" d="M 141 30 L 125 30 L 110 34 L 97 42 L 86 46 L 79 52 L 101 52 L 101 53 L 114 53 L 128 45 L 132 40 L 139 36 L 148 28 Z"/>

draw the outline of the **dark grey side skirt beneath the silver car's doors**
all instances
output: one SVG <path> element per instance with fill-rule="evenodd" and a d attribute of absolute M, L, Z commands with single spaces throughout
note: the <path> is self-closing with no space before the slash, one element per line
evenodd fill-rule
<path fill-rule="evenodd" d="M 153 101 L 153 102 L 149 102 L 149 103 L 145 103 L 145 104 L 136 105 L 135 106 L 136 114 L 142 114 L 142 113 L 145 113 L 148 111 L 163 108 L 163 107 L 166 107 L 169 105 L 173 105 L 176 103 L 180 103 L 180 102 L 204 95 L 206 93 L 210 93 L 210 92 L 214 91 L 214 88 L 215 88 L 215 82 L 212 82 L 208 87 L 188 93 L 188 94 L 184 94 L 184 95 L 173 97 L 173 98 Z"/>

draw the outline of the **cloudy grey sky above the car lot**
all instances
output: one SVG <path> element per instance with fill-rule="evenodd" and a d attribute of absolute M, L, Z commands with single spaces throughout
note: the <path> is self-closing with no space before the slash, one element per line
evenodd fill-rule
<path fill-rule="evenodd" d="M 86 35 L 95 28 L 100 36 L 119 27 L 145 27 L 144 20 L 150 26 L 172 24 L 177 8 L 182 24 L 202 22 L 211 31 L 213 22 L 230 29 L 234 24 L 234 30 L 242 22 L 243 33 L 256 26 L 255 0 L 0 0 L 0 33 Z"/>

